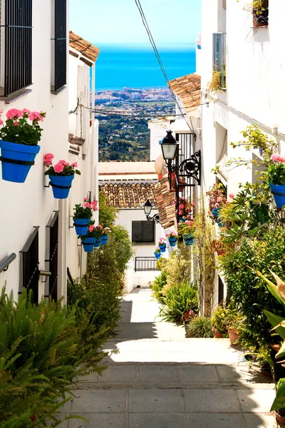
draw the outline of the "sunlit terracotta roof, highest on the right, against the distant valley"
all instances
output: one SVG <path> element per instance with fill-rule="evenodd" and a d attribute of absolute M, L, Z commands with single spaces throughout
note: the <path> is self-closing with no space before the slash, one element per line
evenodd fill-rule
<path fill-rule="evenodd" d="M 186 113 L 196 110 L 201 103 L 201 76 L 195 73 L 175 78 L 168 86 L 179 96 Z"/>

